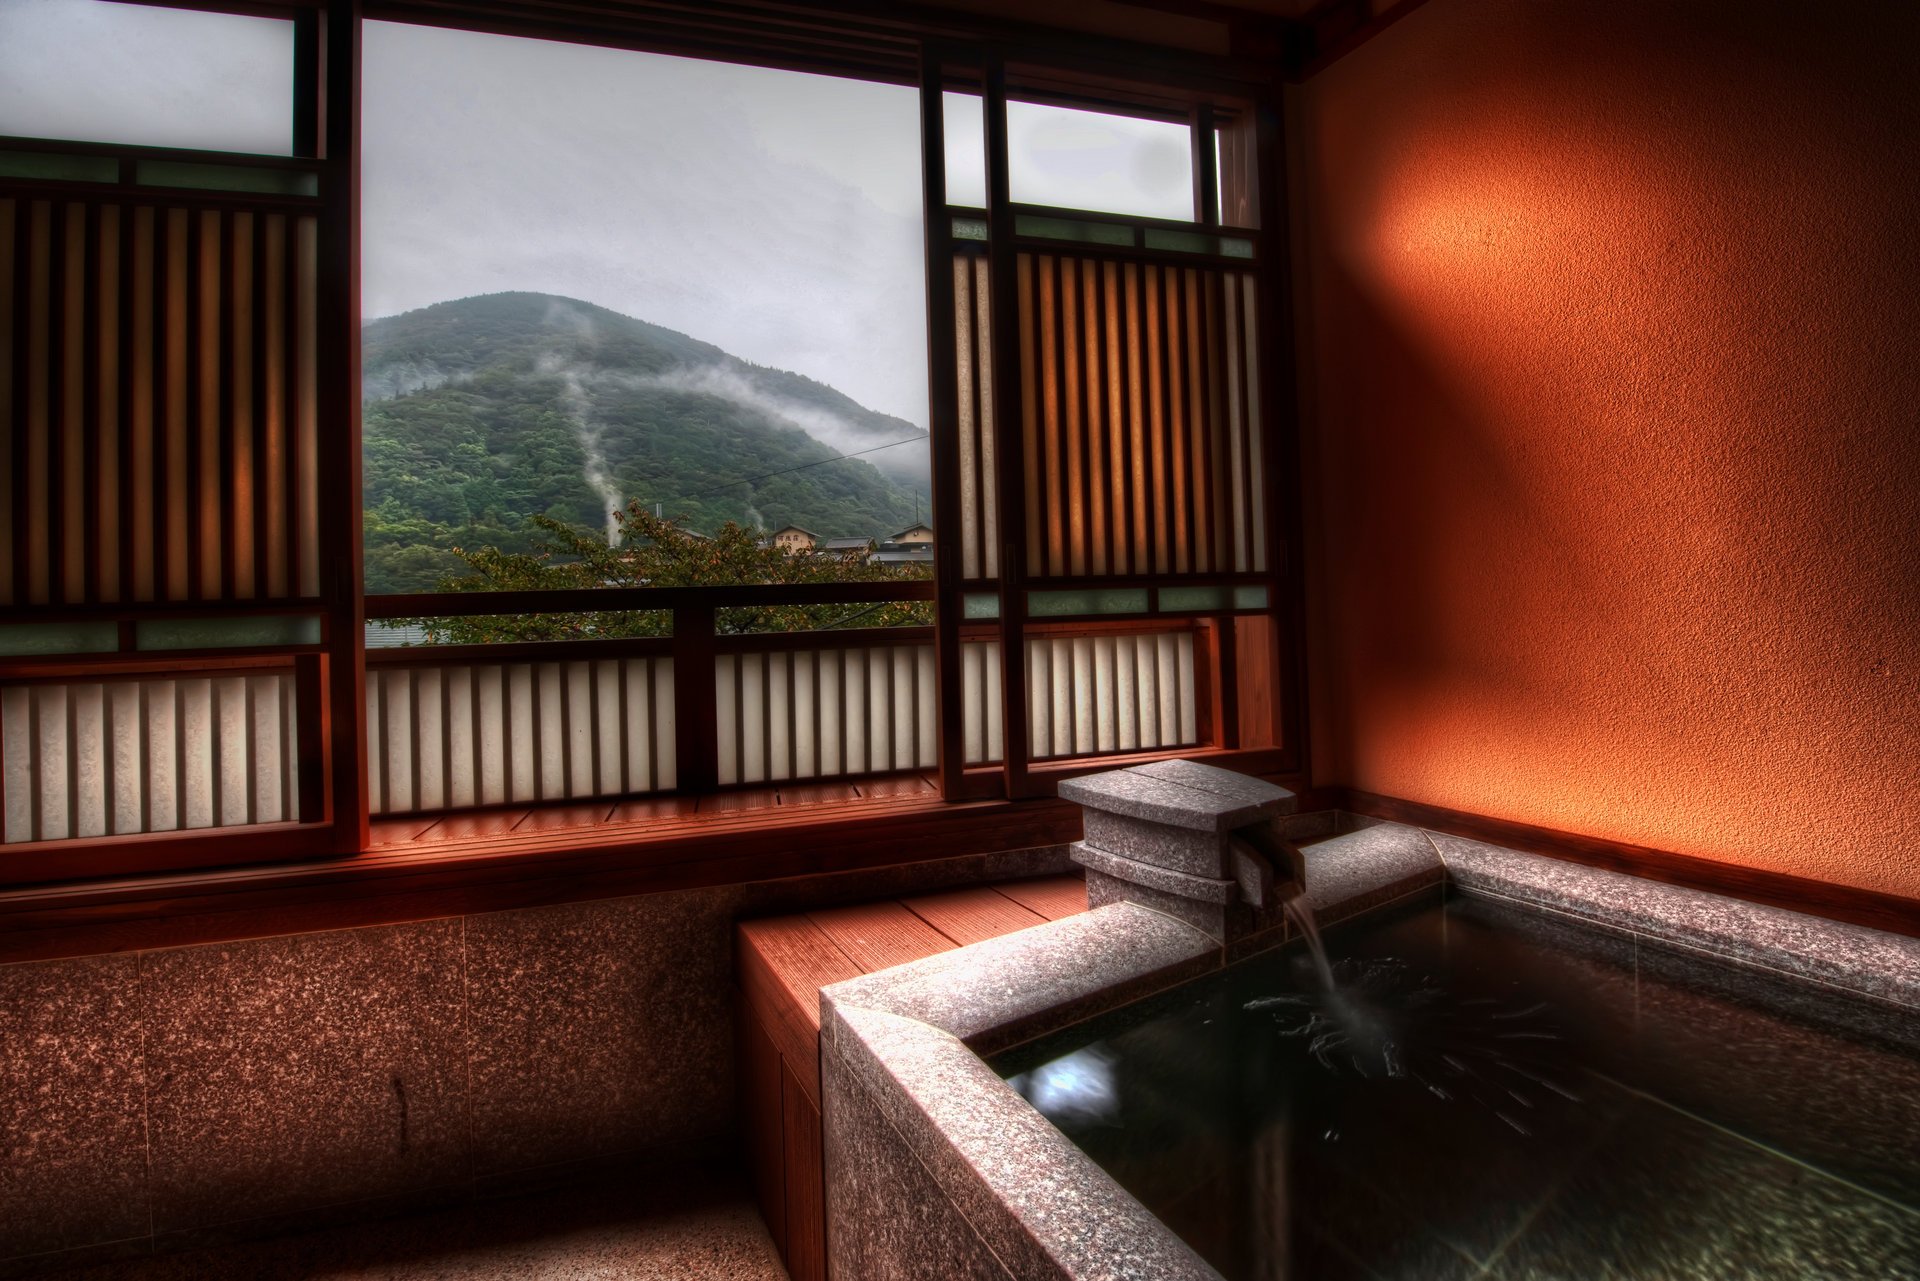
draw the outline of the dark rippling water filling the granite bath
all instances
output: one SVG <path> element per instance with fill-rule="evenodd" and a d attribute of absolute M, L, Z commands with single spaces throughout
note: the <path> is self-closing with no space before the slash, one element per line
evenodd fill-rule
<path fill-rule="evenodd" d="M 1912 1012 L 1501 901 L 995 1066 L 1229 1281 L 1920 1279 Z"/>

